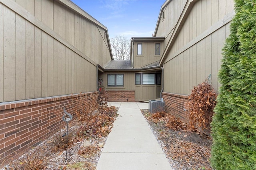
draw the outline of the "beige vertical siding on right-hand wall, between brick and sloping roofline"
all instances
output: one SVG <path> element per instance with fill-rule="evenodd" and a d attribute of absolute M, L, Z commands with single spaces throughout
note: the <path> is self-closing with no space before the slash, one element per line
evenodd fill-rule
<path fill-rule="evenodd" d="M 219 1 L 212 1 L 212 4 L 208 4 L 208 2 L 202 0 L 196 2 L 192 7 L 183 27 L 180 28 L 179 34 L 174 40 L 174 44 L 170 47 L 170 53 L 168 53 L 164 61 L 165 92 L 189 95 L 193 86 L 206 80 L 210 74 L 210 82 L 214 86 L 214 89 L 218 91 L 220 84 L 217 80 L 217 73 L 221 65 L 221 49 L 224 45 L 225 38 L 228 36 L 228 25 L 230 18 L 232 18 L 230 16 L 233 14 L 233 11 L 226 10 L 226 7 L 218 7 L 220 4 L 226 6 L 226 3 L 232 5 L 230 0 L 224 2 Z M 208 9 L 209 7 L 210 9 Z M 199 10 L 200 12 L 198 12 Z M 216 19 L 216 16 L 214 16 L 216 15 L 216 11 L 207 15 L 208 10 L 221 12 L 219 15 L 217 13 Z M 204 11 L 206 11 L 206 14 Z M 204 22 L 205 20 L 202 20 L 204 17 L 206 17 L 206 21 L 212 21 L 210 27 L 207 22 Z M 198 23 L 206 24 L 205 27 L 208 30 L 205 30 L 204 27 L 202 28 L 202 25 Z M 189 42 L 180 43 L 181 41 L 185 41 L 184 36 L 188 37 L 188 25 L 192 28 L 190 29 Z M 212 32 L 210 32 L 211 30 Z M 186 61 L 184 61 L 184 56 L 186 56 Z M 188 64 L 185 64 L 186 62 Z"/>

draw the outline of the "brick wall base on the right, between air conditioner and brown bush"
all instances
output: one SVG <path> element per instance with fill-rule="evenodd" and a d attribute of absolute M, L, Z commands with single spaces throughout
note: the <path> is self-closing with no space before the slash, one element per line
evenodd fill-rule
<path fill-rule="evenodd" d="M 167 113 L 171 113 L 179 117 L 181 121 L 189 123 L 188 96 L 163 92 L 162 98 L 164 98 Z"/>

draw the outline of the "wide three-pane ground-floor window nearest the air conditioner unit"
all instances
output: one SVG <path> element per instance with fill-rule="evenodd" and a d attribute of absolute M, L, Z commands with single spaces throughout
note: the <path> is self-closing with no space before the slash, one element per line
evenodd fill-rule
<path fill-rule="evenodd" d="M 135 84 L 161 84 L 161 74 L 136 73 Z"/>

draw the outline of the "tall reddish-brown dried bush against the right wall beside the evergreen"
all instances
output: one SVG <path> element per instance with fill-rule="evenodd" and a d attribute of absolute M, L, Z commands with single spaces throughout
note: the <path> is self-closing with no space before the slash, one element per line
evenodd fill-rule
<path fill-rule="evenodd" d="M 191 90 L 189 96 L 190 125 L 192 129 L 200 127 L 202 131 L 210 127 L 211 111 L 216 105 L 217 94 L 207 80 Z"/>

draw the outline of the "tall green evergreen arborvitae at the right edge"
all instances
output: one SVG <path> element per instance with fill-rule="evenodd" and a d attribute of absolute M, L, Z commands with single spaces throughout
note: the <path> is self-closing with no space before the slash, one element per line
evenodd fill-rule
<path fill-rule="evenodd" d="M 256 0 L 235 0 L 235 11 L 218 73 L 211 164 L 256 170 Z"/>

